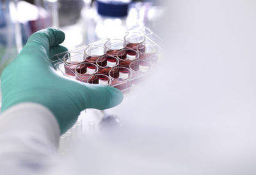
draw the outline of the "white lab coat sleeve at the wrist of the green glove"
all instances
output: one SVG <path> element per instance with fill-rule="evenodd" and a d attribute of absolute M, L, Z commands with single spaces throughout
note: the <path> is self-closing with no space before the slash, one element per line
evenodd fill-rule
<path fill-rule="evenodd" d="M 0 116 L 0 174 L 40 174 L 54 164 L 60 128 L 52 112 L 20 103 Z"/>

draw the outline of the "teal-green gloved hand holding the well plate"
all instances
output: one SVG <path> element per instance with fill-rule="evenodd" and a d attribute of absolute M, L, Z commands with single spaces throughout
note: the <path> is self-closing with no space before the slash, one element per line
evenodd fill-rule
<path fill-rule="evenodd" d="M 49 57 L 66 51 L 65 34 L 44 29 L 32 34 L 1 76 L 2 111 L 24 102 L 40 103 L 56 117 L 61 133 L 86 108 L 108 109 L 122 102 L 122 92 L 109 86 L 84 84 L 56 74 Z"/>

